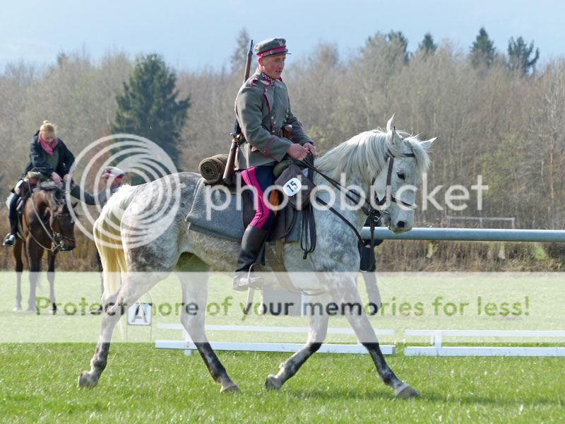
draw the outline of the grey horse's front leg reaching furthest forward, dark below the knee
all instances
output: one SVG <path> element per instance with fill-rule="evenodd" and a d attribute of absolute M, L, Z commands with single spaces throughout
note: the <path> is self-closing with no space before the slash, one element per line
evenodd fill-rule
<path fill-rule="evenodd" d="M 359 342 L 369 351 L 377 372 L 383 382 L 394 389 L 394 395 L 398 398 L 409 398 L 418 396 L 418 392 L 412 389 L 410 385 L 400 380 L 394 374 L 391 367 L 388 366 L 384 359 L 379 341 L 376 338 L 375 331 L 369 322 L 367 314 L 365 314 L 362 300 L 355 286 L 355 281 L 347 279 L 343 281 L 343 276 L 334 276 L 335 284 L 333 287 L 333 299 L 337 302 L 338 307 L 345 310 L 347 320 L 352 326 Z"/>

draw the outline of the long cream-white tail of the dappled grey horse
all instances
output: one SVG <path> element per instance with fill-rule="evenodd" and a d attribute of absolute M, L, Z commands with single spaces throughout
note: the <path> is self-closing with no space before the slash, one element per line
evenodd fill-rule
<path fill-rule="evenodd" d="M 121 285 L 121 276 L 128 271 L 120 224 L 135 192 L 135 187 L 121 187 L 110 197 L 94 223 L 94 241 L 102 262 L 102 302 L 117 292 Z"/>

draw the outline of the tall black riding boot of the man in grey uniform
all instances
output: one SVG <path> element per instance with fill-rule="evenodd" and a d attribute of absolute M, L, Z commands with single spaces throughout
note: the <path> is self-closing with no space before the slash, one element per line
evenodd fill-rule
<path fill-rule="evenodd" d="M 239 250 L 237 268 L 234 276 L 234 290 L 260 288 L 261 278 L 251 272 L 258 261 L 261 248 L 267 239 L 268 231 L 248 225 L 242 238 L 242 249 Z"/>

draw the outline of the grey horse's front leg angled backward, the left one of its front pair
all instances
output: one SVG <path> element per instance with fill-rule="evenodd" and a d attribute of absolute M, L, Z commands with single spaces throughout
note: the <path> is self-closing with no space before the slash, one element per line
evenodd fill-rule
<path fill-rule="evenodd" d="M 309 305 L 323 305 L 323 311 L 330 300 L 328 295 L 324 295 L 323 299 L 316 299 L 316 302 L 309 302 Z M 302 365 L 307 361 L 311 355 L 314 355 L 322 346 L 323 341 L 328 334 L 328 320 L 329 315 L 325 313 L 317 314 L 312 310 L 309 314 L 310 331 L 308 333 L 308 341 L 304 348 L 300 349 L 297 353 L 288 358 L 284 363 L 280 364 L 280 370 L 277 375 L 268 375 L 265 382 L 267 389 L 278 390 L 283 387 L 283 384 L 293 377 Z"/>

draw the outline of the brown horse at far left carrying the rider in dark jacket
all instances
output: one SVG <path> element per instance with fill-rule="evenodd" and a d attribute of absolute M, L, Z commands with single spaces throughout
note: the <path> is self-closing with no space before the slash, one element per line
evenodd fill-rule
<path fill-rule="evenodd" d="M 72 206 L 71 206 L 72 208 Z M 69 252 L 75 248 L 74 220 L 66 204 L 65 194 L 52 182 L 44 182 L 32 190 L 30 199 L 25 203 L 22 213 L 23 233 L 18 237 L 13 255 L 16 259 L 16 306 L 22 309 L 21 278 L 23 271 L 22 247 L 28 258 L 30 269 L 30 297 L 28 312 L 35 312 L 35 288 L 41 271 L 43 251 L 47 250 L 47 279 L 49 281 L 49 299 L 52 312 L 57 312 L 55 305 L 55 257 L 57 252 Z"/>

